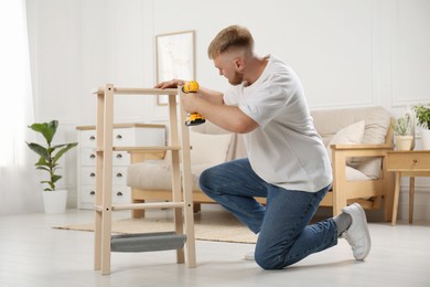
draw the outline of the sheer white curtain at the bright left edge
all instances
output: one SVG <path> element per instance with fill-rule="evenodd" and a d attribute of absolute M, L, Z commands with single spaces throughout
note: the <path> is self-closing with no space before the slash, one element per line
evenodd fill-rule
<path fill-rule="evenodd" d="M 34 141 L 25 1 L 0 1 L 0 215 L 42 210 L 42 192 L 25 141 Z"/>

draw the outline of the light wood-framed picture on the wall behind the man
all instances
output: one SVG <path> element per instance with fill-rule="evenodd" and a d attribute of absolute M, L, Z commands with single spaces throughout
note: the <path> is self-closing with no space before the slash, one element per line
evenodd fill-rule
<path fill-rule="evenodd" d="M 172 78 L 195 78 L 195 31 L 155 35 L 157 83 Z M 168 96 L 159 95 L 157 105 L 168 105 Z"/>

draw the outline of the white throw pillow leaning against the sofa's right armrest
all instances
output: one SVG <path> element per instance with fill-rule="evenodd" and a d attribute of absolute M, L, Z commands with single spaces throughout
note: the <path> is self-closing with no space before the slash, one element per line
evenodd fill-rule
<path fill-rule="evenodd" d="M 326 147 L 330 160 L 332 160 L 332 149 L 330 148 L 331 145 L 362 144 L 362 139 L 364 136 L 364 127 L 365 123 L 364 120 L 361 120 L 338 130 L 330 140 Z"/>

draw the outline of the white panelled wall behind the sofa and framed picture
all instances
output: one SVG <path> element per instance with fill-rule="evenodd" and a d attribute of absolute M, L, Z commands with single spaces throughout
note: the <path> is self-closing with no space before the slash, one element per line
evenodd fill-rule
<path fill-rule="evenodd" d="M 57 118 L 65 139 L 76 137 L 75 126 L 95 123 L 93 88 L 154 84 L 157 34 L 195 30 L 197 79 L 225 88 L 206 47 L 234 23 L 251 30 L 257 52 L 276 54 L 295 70 L 312 109 L 380 105 L 399 115 L 407 104 L 430 102 L 427 0 L 26 2 L 36 116 Z M 153 98 L 118 99 L 117 121 L 165 117 Z M 71 157 L 65 185 L 73 190 L 76 161 Z M 429 189 L 428 180 L 417 180 L 417 219 L 430 220 Z M 75 200 L 72 192 L 71 204 Z M 401 217 L 407 204 L 405 181 Z"/>

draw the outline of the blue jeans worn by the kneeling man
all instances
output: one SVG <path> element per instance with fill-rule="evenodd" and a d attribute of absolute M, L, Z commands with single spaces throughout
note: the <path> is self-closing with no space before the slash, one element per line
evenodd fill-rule
<path fill-rule="evenodd" d="M 259 233 L 255 258 L 265 269 L 280 269 L 308 255 L 337 244 L 333 219 L 309 225 L 329 191 L 286 190 L 260 179 L 248 159 L 238 159 L 205 170 L 202 190 Z M 267 198 L 266 206 L 254 196 Z"/>

